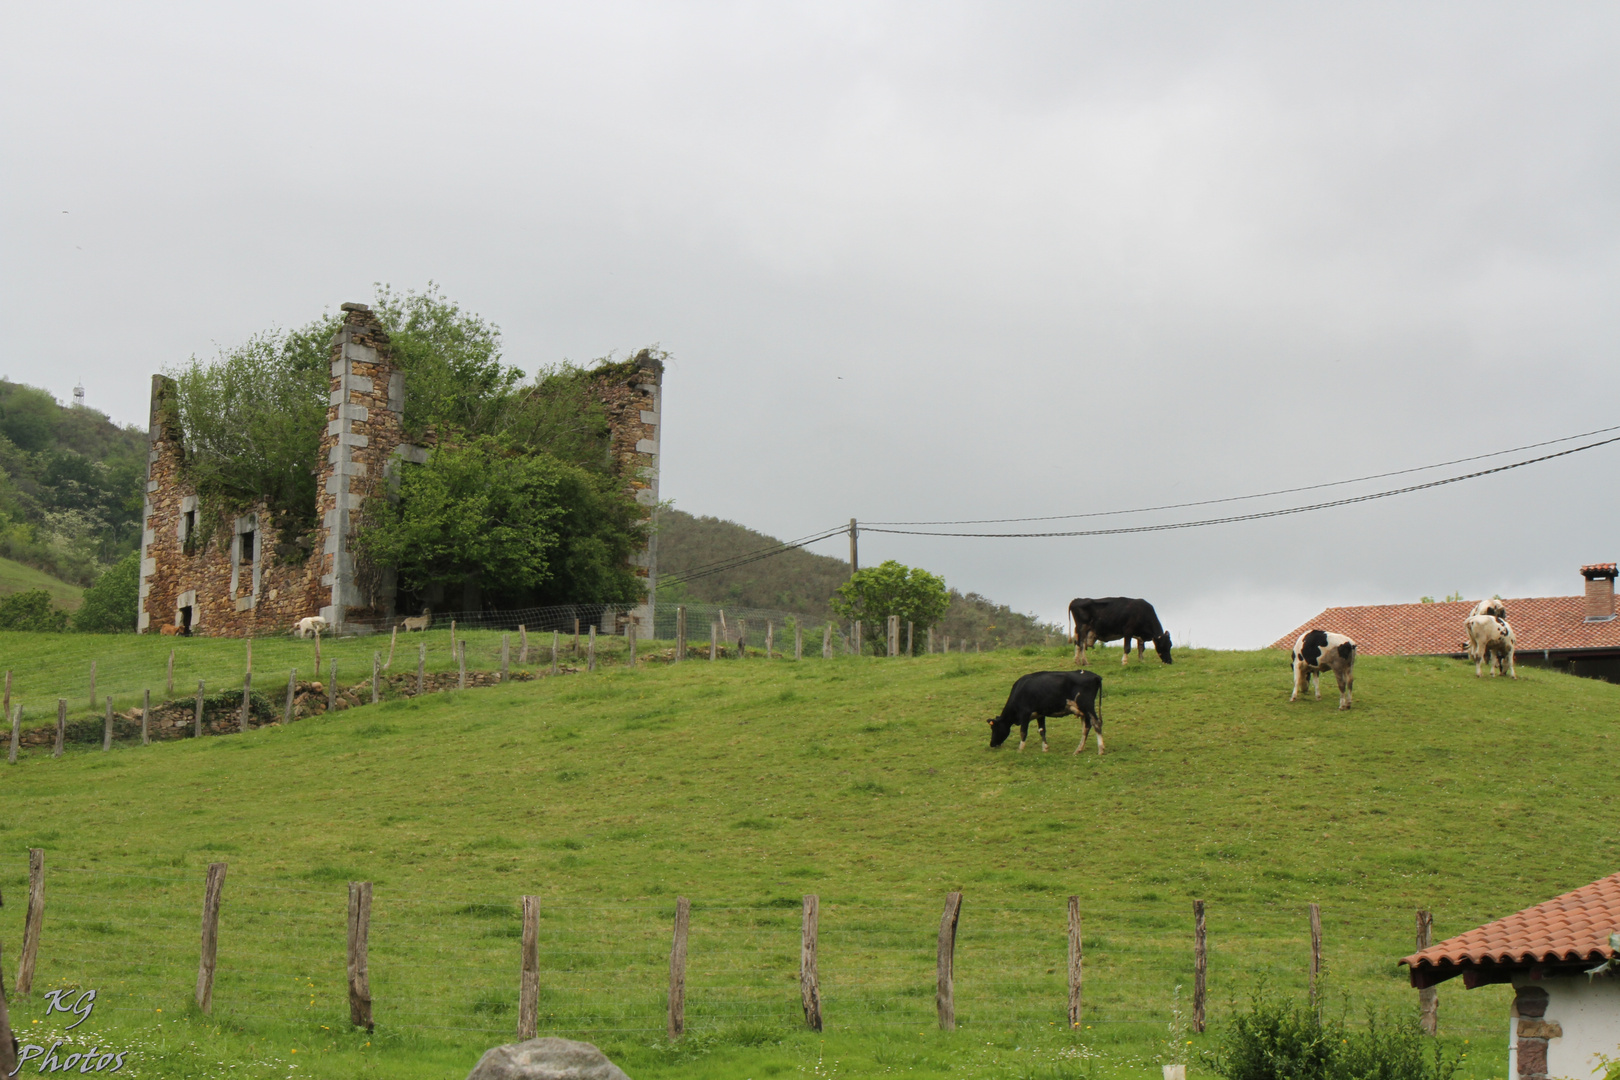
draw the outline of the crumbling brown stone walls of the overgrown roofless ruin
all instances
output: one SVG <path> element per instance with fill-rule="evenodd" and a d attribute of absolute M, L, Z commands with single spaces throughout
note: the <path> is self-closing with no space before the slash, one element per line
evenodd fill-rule
<path fill-rule="evenodd" d="M 428 449 L 405 440 L 407 377 L 390 363 L 389 335 L 366 304 L 342 304 L 332 337 L 332 397 L 321 436 L 318 531 L 311 552 L 274 542 L 266 504 L 227 518 L 212 538 L 199 534 L 196 492 L 181 474 L 180 432 L 170 429 L 173 381 L 152 376 L 141 531 L 139 633 L 253 636 L 287 631 L 321 615 L 332 633 L 366 633 L 394 617 L 390 572 L 377 581 L 356 573 L 352 541 L 374 484 L 405 463 L 423 463 Z M 664 364 L 642 351 L 633 374 L 598 376 L 617 474 L 651 517 L 658 505 L 658 431 Z M 209 542 L 204 542 L 209 541 Z M 633 557 L 646 599 L 630 610 L 640 636 L 653 631 L 658 588 L 656 538 Z M 413 615 L 415 612 L 400 612 Z"/>

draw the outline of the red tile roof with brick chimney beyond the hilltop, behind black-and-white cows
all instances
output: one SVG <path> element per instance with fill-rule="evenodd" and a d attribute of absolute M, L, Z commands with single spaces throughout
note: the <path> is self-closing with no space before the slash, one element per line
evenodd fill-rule
<path fill-rule="evenodd" d="M 1434 656 L 1468 651 L 1463 620 L 1477 601 L 1448 604 L 1377 604 L 1328 607 L 1272 643 L 1291 649 L 1306 630 L 1349 635 L 1364 656 Z M 1513 641 L 1531 649 L 1620 649 L 1620 619 L 1586 622 L 1584 596 L 1536 596 L 1503 601 Z"/>

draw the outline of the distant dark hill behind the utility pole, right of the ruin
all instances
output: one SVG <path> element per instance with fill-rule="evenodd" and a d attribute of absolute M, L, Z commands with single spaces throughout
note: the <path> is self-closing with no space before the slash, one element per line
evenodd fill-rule
<path fill-rule="evenodd" d="M 836 541 L 828 541 L 831 546 Z M 735 521 L 693 517 L 684 510 L 661 510 L 658 515 L 659 580 L 679 578 L 705 565 L 737 559 L 781 544 L 774 536 Z M 794 549 L 770 559 L 750 562 L 690 581 L 676 581 L 658 589 L 659 601 L 679 604 L 732 604 L 765 607 L 804 615 L 810 622 L 831 617 L 828 597 L 849 580 L 849 563 L 831 555 Z M 1014 612 L 1006 604 L 951 589 L 951 610 L 938 628 L 956 643 L 972 648 L 1045 644 L 1063 635 L 1061 627 L 1042 623 L 1034 615 Z M 917 648 L 922 648 L 920 644 Z"/>

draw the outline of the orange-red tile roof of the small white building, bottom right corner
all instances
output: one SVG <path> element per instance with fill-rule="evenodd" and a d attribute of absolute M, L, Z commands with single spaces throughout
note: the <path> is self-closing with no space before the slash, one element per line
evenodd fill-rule
<path fill-rule="evenodd" d="M 1609 947 L 1609 934 L 1615 931 L 1620 931 L 1620 874 L 1448 938 L 1403 957 L 1401 963 L 1411 965 L 1414 978 L 1419 968 L 1469 963 L 1596 963 L 1615 954 Z"/>

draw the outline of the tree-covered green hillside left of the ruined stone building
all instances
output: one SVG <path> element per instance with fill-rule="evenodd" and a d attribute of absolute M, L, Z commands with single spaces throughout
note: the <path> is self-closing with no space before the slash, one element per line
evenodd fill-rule
<path fill-rule="evenodd" d="M 75 585 L 141 539 L 146 432 L 0 381 L 0 555 Z"/>

